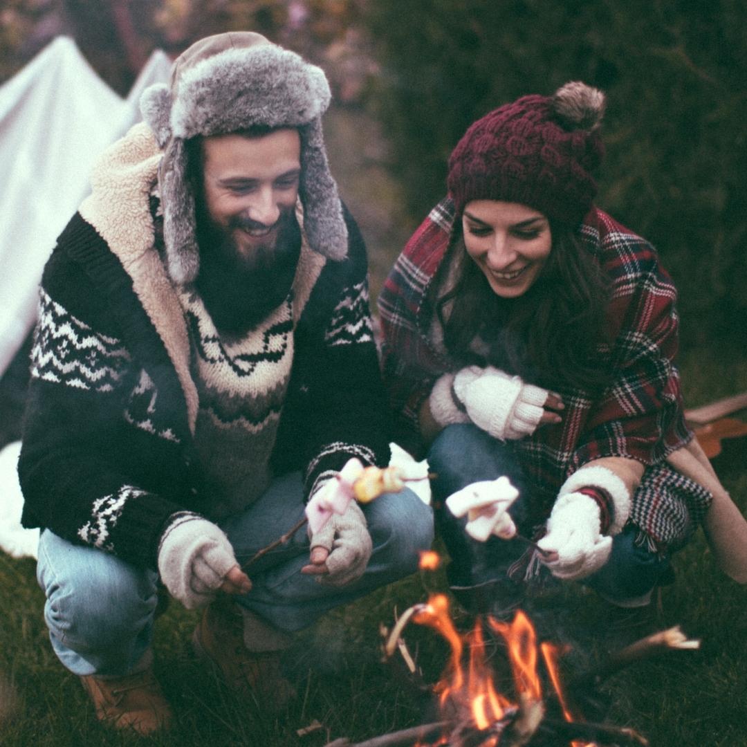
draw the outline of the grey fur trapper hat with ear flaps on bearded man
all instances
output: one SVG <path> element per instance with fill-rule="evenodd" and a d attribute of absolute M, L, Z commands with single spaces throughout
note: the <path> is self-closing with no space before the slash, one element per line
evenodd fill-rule
<path fill-rule="evenodd" d="M 309 246 L 332 259 L 345 257 L 347 228 L 321 125 L 330 98 L 322 69 L 251 31 L 215 34 L 194 43 L 174 61 L 170 85 L 159 83 L 143 91 L 143 119 L 164 149 L 159 185 L 173 280 L 192 282 L 199 270 L 185 141 L 252 125 L 298 129 L 299 196 Z"/>

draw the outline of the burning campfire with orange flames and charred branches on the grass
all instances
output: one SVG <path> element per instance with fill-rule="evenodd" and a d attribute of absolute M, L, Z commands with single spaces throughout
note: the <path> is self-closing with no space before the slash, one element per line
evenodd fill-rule
<path fill-rule="evenodd" d="M 438 557 L 424 554 L 422 568 L 433 569 Z M 538 641 L 528 616 L 519 610 L 512 621 L 478 617 L 460 633 L 450 615 L 449 600 L 433 594 L 397 619 L 385 636 L 384 655 L 397 654 L 413 682 L 422 675 L 403 639 L 410 623 L 433 628 L 449 645 L 441 678 L 421 689 L 433 692 L 438 721 L 374 737 L 351 747 L 604 747 L 645 746 L 647 740 L 630 728 L 587 722 L 583 704 L 594 701 L 598 687 L 634 660 L 660 651 L 698 648 L 678 627 L 654 633 L 612 654 L 604 663 L 565 684 L 560 660 L 568 645 Z M 350 746 L 335 740 L 327 747 Z"/>

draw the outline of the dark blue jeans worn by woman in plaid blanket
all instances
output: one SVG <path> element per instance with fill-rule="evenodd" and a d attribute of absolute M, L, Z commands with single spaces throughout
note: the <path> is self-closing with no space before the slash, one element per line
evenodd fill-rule
<path fill-rule="evenodd" d="M 480 480 L 495 480 L 506 475 L 519 491 L 509 514 L 518 533 L 531 537 L 536 525 L 527 481 L 518 465 L 510 444 L 492 438 L 471 424 L 457 424 L 439 434 L 428 454 L 430 470 L 438 477 L 433 482 L 433 505 L 436 527 L 444 539 L 451 557 L 447 569 L 449 583 L 456 587 L 456 595 L 476 601 L 477 606 L 496 604 L 510 609 L 521 602 L 524 580 L 509 577 L 508 571 L 527 551 L 518 539 L 504 540 L 491 537 L 477 542 L 465 533 L 466 517 L 454 517 L 444 505 L 453 492 Z M 628 524 L 613 538 L 612 552 L 607 563 L 595 574 L 583 579 L 586 586 L 622 607 L 634 607 L 656 586 L 669 568 L 669 560 L 651 552 L 644 543 L 635 542 L 639 530 Z M 516 569 L 517 566 L 514 565 Z M 462 592 L 462 596 L 459 596 Z M 643 602 L 645 604 L 645 601 Z M 474 605 L 472 605 L 474 606 Z"/>

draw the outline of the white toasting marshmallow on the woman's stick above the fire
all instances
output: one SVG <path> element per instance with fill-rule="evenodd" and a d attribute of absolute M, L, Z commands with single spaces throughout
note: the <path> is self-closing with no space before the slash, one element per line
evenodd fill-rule
<path fill-rule="evenodd" d="M 508 509 L 516 498 L 518 490 L 508 477 L 498 477 L 457 490 L 446 499 L 446 505 L 457 518 L 467 514 L 465 531 L 472 539 L 486 542 L 492 534 L 500 539 L 515 536 L 516 526 Z"/>

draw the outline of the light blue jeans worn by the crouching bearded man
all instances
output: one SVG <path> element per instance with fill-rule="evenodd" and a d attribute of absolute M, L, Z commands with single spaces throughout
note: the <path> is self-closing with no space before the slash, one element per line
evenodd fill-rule
<path fill-rule="evenodd" d="M 303 514 L 299 473 L 273 480 L 241 515 L 220 522 L 238 562 L 278 539 Z M 419 552 L 433 542 L 433 514 L 409 489 L 362 506 L 373 541 L 365 573 L 344 587 L 300 573 L 309 562 L 301 527 L 285 545 L 249 570 L 252 590 L 235 597 L 280 630 L 294 631 L 323 613 L 411 574 Z M 72 545 L 49 530 L 39 542 L 37 579 L 46 594 L 44 616 L 52 647 L 76 675 L 125 675 L 148 651 L 158 601 L 158 574 L 95 548 Z"/>

